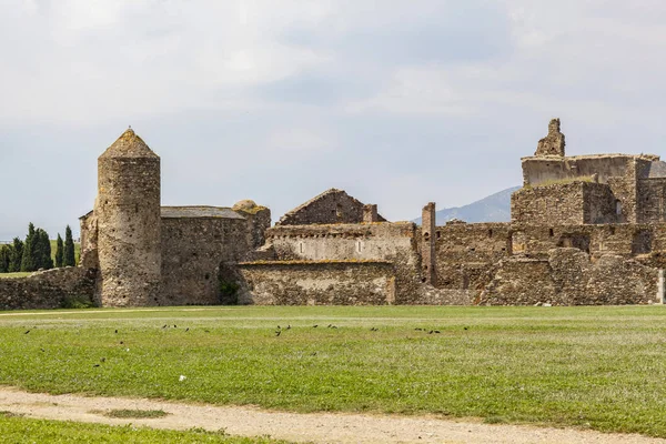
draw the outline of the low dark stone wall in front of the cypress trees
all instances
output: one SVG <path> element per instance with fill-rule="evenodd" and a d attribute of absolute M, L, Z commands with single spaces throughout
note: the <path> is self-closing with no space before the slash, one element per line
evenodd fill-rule
<path fill-rule="evenodd" d="M 72 300 L 92 302 L 94 279 L 94 270 L 79 266 L 0 279 L 0 310 L 60 309 Z"/>

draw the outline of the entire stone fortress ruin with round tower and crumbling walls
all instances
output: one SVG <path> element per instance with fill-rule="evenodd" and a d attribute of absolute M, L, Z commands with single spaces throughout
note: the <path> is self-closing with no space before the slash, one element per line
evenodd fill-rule
<path fill-rule="evenodd" d="M 331 189 L 271 226 L 253 201 L 161 206 L 160 158 L 132 130 L 98 161 L 78 268 L 0 280 L 0 307 L 186 304 L 586 305 L 663 301 L 666 163 L 565 155 L 558 119 L 533 157 L 512 221 L 389 222 Z"/>

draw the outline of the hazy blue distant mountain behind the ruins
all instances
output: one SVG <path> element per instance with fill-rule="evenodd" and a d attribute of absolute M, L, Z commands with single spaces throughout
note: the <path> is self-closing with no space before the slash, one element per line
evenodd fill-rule
<path fill-rule="evenodd" d="M 509 222 L 511 194 L 519 189 L 521 186 L 507 188 L 464 206 L 440 210 L 435 213 L 437 225 L 443 225 L 452 219 L 465 222 Z M 421 224 L 421 218 L 415 219 L 414 222 Z"/>

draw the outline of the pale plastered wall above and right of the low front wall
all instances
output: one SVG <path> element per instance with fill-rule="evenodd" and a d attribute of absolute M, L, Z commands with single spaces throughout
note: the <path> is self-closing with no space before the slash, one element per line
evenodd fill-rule
<path fill-rule="evenodd" d="M 421 259 L 411 222 L 284 225 L 266 231 L 279 260 L 389 261 L 395 268 L 397 304 L 418 297 Z"/>

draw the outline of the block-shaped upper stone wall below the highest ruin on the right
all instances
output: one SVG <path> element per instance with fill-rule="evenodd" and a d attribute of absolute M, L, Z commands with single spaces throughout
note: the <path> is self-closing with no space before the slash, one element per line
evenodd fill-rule
<path fill-rule="evenodd" d="M 617 222 L 617 199 L 607 184 L 553 183 L 526 186 L 511 196 L 512 222 L 538 225 Z"/>

